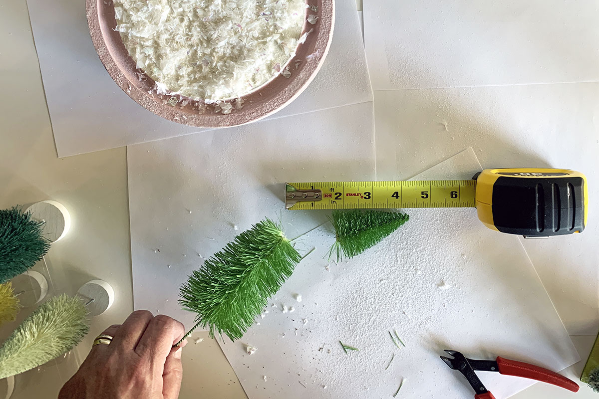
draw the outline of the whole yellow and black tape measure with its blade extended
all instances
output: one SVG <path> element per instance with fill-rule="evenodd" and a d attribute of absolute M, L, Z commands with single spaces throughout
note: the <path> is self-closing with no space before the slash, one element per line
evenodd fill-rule
<path fill-rule="evenodd" d="M 311 182 L 286 185 L 286 209 L 470 208 L 489 229 L 524 237 L 581 233 L 588 214 L 582 173 L 485 169 L 472 180 Z"/>

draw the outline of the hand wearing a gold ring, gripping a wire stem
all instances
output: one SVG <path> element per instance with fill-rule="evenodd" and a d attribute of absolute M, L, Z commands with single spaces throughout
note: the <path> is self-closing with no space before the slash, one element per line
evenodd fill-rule
<path fill-rule="evenodd" d="M 137 310 L 122 325 L 103 334 L 110 345 L 95 345 L 58 399 L 176 399 L 183 367 L 173 345 L 185 334 L 183 324 L 165 315 Z"/>

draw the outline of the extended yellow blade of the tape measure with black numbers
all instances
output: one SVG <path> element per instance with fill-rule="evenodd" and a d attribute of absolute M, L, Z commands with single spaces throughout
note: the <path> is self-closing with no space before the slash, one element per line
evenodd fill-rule
<path fill-rule="evenodd" d="M 288 183 L 287 209 L 475 208 L 475 180 Z"/>

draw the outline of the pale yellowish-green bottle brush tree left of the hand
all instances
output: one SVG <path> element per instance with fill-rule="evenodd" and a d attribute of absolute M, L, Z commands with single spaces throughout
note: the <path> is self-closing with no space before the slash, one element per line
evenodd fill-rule
<path fill-rule="evenodd" d="M 70 351 L 88 330 L 87 309 L 81 300 L 64 294 L 47 300 L 0 347 L 0 379 Z"/>

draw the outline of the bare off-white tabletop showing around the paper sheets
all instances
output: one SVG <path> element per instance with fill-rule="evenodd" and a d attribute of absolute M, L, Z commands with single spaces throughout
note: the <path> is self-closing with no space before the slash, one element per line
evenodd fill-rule
<path fill-rule="evenodd" d="M 4 92 L 0 99 L 0 208 L 45 199 L 62 202 L 71 212 L 73 226 L 49 254 L 54 267 L 61 267 L 66 275 L 59 284 L 74 294 L 84 282 L 99 278 L 116 291 L 114 306 L 92 320 L 90 334 L 78 348 L 85 354 L 96 334 L 122 322 L 133 309 L 126 149 L 56 157 L 25 0 L 0 2 L 0 87 Z M 586 359 L 594 338 L 573 337 L 581 358 Z M 213 340 L 197 345 L 190 342 L 183 362 L 186 374 L 180 398 L 245 397 Z M 580 362 L 565 374 L 577 379 L 582 367 Z M 459 378 L 456 375 L 456 383 L 462 383 Z M 45 379 L 37 387 L 38 397 L 55 398 L 60 385 Z M 514 398 L 560 399 L 571 395 L 536 384 Z M 13 397 L 25 398 L 18 392 Z M 595 397 L 586 387 L 577 394 L 581 399 Z"/>

